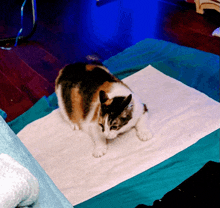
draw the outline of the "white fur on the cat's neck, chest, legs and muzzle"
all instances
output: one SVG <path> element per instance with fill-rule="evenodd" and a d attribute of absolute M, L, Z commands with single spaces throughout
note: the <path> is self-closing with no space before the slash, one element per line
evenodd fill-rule
<path fill-rule="evenodd" d="M 74 124 L 72 121 L 70 121 L 65 107 L 64 102 L 61 96 L 61 86 L 58 85 L 56 89 L 56 94 L 58 98 L 58 104 L 60 113 L 63 116 L 63 118 L 70 124 L 73 130 L 79 130 L 79 126 L 77 124 Z M 146 141 L 150 138 L 152 138 L 151 132 L 147 129 L 147 116 L 148 113 L 143 113 L 143 104 L 139 97 L 131 92 L 126 86 L 124 86 L 121 83 L 114 83 L 111 87 L 111 90 L 108 94 L 109 99 L 116 97 L 116 96 L 128 96 L 129 94 L 132 94 L 132 105 L 133 105 L 133 112 L 132 112 L 132 119 L 121 129 L 118 131 L 109 129 L 109 126 L 107 125 L 107 118 L 105 121 L 105 131 L 102 132 L 101 127 L 99 126 L 97 121 L 92 121 L 95 109 L 97 105 L 100 103 L 99 99 L 92 103 L 92 106 L 90 108 L 90 111 L 85 118 L 85 120 L 80 122 L 80 127 L 83 132 L 86 132 L 94 141 L 95 148 L 93 152 L 94 157 L 101 157 L 104 154 L 106 154 L 107 151 L 107 142 L 106 139 L 114 139 L 117 137 L 118 134 L 124 133 L 129 131 L 131 128 L 135 127 L 137 131 L 137 136 L 140 140 Z"/>

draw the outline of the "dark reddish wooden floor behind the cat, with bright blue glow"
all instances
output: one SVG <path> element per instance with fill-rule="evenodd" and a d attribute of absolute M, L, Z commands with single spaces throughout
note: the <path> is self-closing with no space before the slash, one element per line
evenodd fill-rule
<path fill-rule="evenodd" d="M 5 2 L 4 2 L 5 1 Z M 16 36 L 22 0 L 4 0 L 0 8 L 0 38 Z M 58 71 L 87 55 L 100 59 L 155 38 L 220 55 L 220 14 L 195 12 L 183 0 L 47 0 L 37 2 L 38 25 L 31 39 L 0 49 L 0 108 L 7 122 L 54 92 Z M 146 2 L 153 2 L 146 5 Z M 24 9 L 24 34 L 31 31 L 31 4 Z"/>

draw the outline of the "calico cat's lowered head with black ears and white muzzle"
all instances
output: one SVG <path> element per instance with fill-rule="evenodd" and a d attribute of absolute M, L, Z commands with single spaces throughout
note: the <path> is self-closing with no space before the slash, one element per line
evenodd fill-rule
<path fill-rule="evenodd" d="M 101 90 L 99 98 L 101 103 L 99 126 L 107 139 L 114 139 L 122 133 L 121 128 L 132 118 L 132 94 L 109 99 L 108 95 Z"/>

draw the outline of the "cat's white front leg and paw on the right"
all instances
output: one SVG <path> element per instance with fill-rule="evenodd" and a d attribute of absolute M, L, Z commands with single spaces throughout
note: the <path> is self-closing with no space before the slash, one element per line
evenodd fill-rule
<path fill-rule="evenodd" d="M 135 125 L 137 136 L 141 141 L 147 141 L 153 137 L 151 131 L 148 129 L 148 114 L 144 113 L 139 118 Z"/>

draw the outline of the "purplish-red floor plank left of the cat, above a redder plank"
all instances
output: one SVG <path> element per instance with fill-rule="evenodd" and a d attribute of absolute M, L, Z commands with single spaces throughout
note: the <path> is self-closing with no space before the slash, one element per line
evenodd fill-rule
<path fill-rule="evenodd" d="M 33 103 L 54 91 L 54 84 L 50 84 L 28 66 L 16 55 L 14 50 L 0 50 L 0 60 L 0 71 Z"/>

